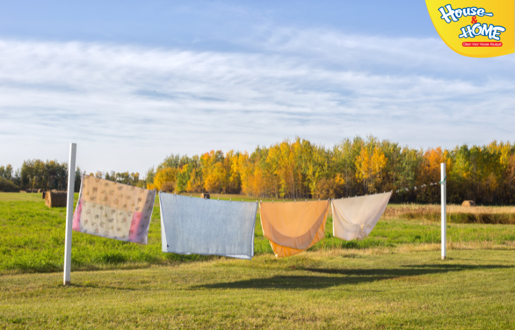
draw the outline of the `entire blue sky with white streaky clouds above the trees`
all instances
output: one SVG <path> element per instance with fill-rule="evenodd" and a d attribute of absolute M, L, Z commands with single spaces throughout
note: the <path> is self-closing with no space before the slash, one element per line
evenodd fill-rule
<path fill-rule="evenodd" d="M 424 1 L 0 5 L 0 165 L 70 142 L 82 170 L 144 174 L 296 136 L 514 140 L 515 54 L 455 54 Z"/>

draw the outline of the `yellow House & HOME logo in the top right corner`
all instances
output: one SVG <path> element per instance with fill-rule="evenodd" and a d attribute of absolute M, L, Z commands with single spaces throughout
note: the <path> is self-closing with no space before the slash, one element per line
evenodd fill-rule
<path fill-rule="evenodd" d="M 426 0 L 433 25 L 458 54 L 494 57 L 515 52 L 514 0 Z"/>

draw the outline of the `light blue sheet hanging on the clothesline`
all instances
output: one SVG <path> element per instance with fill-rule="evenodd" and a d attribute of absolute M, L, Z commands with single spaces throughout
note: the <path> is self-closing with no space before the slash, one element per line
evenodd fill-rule
<path fill-rule="evenodd" d="M 248 259 L 254 256 L 258 203 L 159 193 L 163 252 Z"/>

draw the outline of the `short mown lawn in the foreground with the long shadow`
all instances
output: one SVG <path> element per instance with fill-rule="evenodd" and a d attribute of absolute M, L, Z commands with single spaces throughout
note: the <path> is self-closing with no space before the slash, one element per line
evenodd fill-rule
<path fill-rule="evenodd" d="M 514 329 L 514 251 L 323 250 L 0 276 L 0 329 Z"/>

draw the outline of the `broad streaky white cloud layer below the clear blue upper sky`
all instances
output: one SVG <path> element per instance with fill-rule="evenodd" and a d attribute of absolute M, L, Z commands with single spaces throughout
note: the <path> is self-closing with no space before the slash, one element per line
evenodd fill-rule
<path fill-rule="evenodd" d="M 0 164 L 139 170 L 170 153 L 372 133 L 411 146 L 510 138 L 513 59 L 435 39 L 276 30 L 247 52 L 0 41 Z"/>

